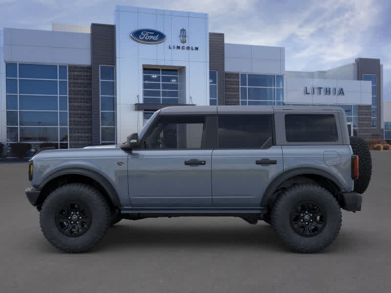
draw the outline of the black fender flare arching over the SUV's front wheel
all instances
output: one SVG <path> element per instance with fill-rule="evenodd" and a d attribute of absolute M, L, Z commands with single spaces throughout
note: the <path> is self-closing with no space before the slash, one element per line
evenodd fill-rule
<path fill-rule="evenodd" d="M 82 175 L 82 176 L 89 177 L 89 178 L 95 180 L 96 182 L 99 182 L 99 184 L 105 189 L 105 191 L 109 195 L 111 203 L 115 207 L 121 206 L 119 198 L 118 198 L 118 194 L 117 194 L 115 188 L 111 185 L 111 183 L 105 177 L 103 177 L 101 174 L 98 174 L 95 171 L 91 171 L 91 170 L 87 170 L 87 169 L 83 169 L 83 168 L 67 168 L 67 169 L 63 169 L 60 171 L 56 171 L 53 174 L 51 174 L 45 178 L 45 180 L 40 185 L 40 189 L 42 189 L 51 180 L 53 180 L 57 177 L 64 176 L 64 175 Z"/>

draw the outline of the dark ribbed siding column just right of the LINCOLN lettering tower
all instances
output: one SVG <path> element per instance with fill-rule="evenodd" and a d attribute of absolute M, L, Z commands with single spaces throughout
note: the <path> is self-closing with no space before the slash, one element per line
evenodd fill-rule
<path fill-rule="evenodd" d="M 225 104 L 224 34 L 209 33 L 209 68 L 217 70 L 217 101 Z"/>

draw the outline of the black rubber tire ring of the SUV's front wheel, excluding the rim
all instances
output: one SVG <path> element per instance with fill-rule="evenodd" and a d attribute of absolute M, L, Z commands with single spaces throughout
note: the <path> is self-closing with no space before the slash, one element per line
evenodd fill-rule
<path fill-rule="evenodd" d="M 59 228 L 58 210 L 69 201 L 83 203 L 90 211 L 90 225 L 77 236 L 67 236 Z M 105 197 L 96 188 L 72 183 L 53 190 L 45 199 L 40 213 L 40 225 L 47 241 L 61 251 L 86 252 L 92 249 L 109 230 L 110 208 Z"/>

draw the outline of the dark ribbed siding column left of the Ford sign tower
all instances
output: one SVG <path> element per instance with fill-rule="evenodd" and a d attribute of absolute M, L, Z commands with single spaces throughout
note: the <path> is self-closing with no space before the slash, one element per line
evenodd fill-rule
<path fill-rule="evenodd" d="M 92 144 L 100 145 L 99 65 L 115 65 L 115 25 L 91 24 Z"/>

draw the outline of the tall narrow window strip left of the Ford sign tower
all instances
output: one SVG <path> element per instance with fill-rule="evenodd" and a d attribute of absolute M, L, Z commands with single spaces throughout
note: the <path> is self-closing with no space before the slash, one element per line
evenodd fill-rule
<path fill-rule="evenodd" d="M 101 144 L 116 143 L 115 67 L 100 65 Z"/>

